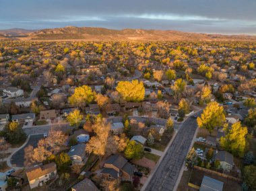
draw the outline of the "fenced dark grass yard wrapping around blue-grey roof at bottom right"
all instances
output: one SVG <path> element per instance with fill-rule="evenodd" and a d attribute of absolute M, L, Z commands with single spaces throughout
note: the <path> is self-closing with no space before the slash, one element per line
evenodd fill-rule
<path fill-rule="evenodd" d="M 238 182 L 232 181 L 227 178 L 223 178 L 222 176 L 211 174 L 209 172 L 201 171 L 199 169 L 193 169 L 189 182 L 192 184 L 195 184 L 197 186 L 201 186 L 203 176 L 208 176 L 210 178 L 214 178 L 216 180 L 224 182 L 223 191 L 240 191 L 240 190 L 242 190 L 241 185 Z"/>

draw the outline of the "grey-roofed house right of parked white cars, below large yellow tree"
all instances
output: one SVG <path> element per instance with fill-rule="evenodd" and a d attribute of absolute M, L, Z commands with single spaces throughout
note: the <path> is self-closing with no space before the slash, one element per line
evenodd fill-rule
<path fill-rule="evenodd" d="M 234 165 L 234 157 L 227 151 L 216 151 L 215 159 L 220 160 L 220 166 L 226 171 L 230 171 Z"/>

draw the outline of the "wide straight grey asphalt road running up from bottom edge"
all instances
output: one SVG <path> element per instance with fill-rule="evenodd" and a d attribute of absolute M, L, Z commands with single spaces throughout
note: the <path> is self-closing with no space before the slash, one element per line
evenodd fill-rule
<path fill-rule="evenodd" d="M 173 190 L 196 129 L 196 119 L 190 116 L 181 125 L 145 190 Z"/>

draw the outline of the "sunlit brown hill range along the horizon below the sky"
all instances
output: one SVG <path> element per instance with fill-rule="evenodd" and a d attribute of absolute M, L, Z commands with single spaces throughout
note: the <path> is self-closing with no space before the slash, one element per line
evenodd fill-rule
<path fill-rule="evenodd" d="M 74 27 L 53 28 L 44 30 L 0 30 L 5 34 L 20 35 L 22 40 L 242 40 L 256 41 L 256 36 L 249 35 L 221 35 L 179 32 L 174 30 L 143 30 L 107 28 Z M 9 33 L 8 33 L 9 31 Z M 25 34 L 25 35 L 24 35 Z M 15 36 L 18 37 L 18 36 Z"/>

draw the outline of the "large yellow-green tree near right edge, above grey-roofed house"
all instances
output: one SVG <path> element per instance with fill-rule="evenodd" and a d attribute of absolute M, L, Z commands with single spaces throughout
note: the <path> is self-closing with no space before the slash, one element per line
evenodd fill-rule
<path fill-rule="evenodd" d="M 220 138 L 221 147 L 233 155 L 242 157 L 245 152 L 247 127 L 243 127 L 241 122 L 236 122 L 231 128 L 225 124 L 224 131 L 226 135 Z"/>

